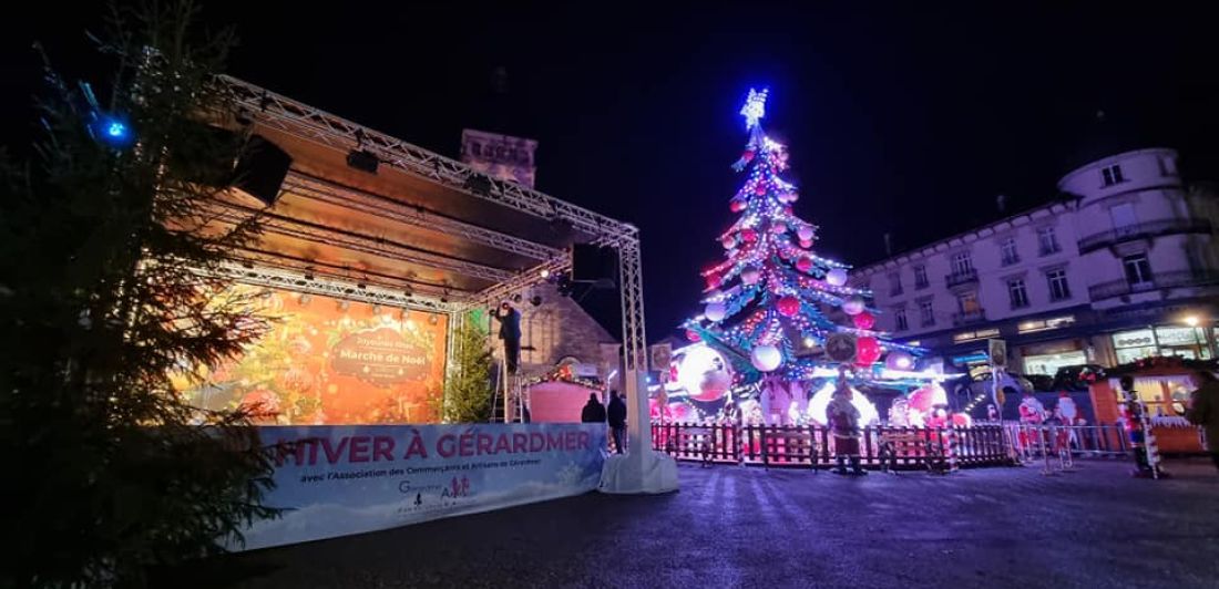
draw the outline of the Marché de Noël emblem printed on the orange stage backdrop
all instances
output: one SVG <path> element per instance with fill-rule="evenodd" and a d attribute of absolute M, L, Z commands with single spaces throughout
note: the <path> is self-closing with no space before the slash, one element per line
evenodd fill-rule
<path fill-rule="evenodd" d="M 390 327 L 357 331 L 340 340 L 332 353 L 335 372 L 375 386 L 422 381 L 430 368 L 427 352 Z"/>

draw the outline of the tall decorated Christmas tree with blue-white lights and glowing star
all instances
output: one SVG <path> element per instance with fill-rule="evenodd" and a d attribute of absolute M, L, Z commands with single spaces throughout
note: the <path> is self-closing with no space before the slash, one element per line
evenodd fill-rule
<path fill-rule="evenodd" d="M 686 322 L 688 336 L 728 358 L 739 385 L 841 368 L 855 380 L 901 378 L 918 350 L 873 330 L 870 292 L 847 285 L 848 265 L 813 252 L 817 226 L 792 213 L 786 147 L 762 130 L 767 92 L 750 90 L 741 108 L 750 139 L 734 168 L 747 178 L 729 203 L 739 218 L 719 237 L 727 259 L 702 273 L 706 307 Z M 842 312 L 837 321 L 833 309 Z"/>

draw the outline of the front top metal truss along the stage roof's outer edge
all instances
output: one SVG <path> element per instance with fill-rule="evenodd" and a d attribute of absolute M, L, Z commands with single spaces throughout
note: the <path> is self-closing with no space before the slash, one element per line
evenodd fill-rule
<path fill-rule="evenodd" d="M 636 239 L 639 230 L 583 207 L 563 202 L 516 183 L 482 174 L 473 168 L 400 139 L 357 125 L 325 111 L 296 102 L 265 88 L 222 75 L 243 114 L 260 124 L 300 139 L 343 151 L 360 148 L 374 153 L 382 163 L 427 178 L 451 190 L 529 213 L 544 219 L 561 219 L 574 229 L 597 237 Z M 477 181 L 471 181 L 472 179 Z M 485 187 L 486 190 L 475 190 Z"/>

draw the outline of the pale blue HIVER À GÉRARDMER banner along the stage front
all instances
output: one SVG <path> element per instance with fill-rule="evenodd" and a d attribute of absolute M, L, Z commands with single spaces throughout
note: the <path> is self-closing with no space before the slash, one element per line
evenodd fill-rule
<path fill-rule="evenodd" d="M 475 423 L 260 428 L 286 511 L 245 549 L 394 528 L 596 489 L 606 427 Z M 240 546 L 233 546 L 240 548 Z"/>

